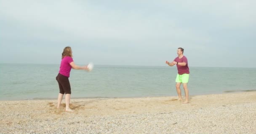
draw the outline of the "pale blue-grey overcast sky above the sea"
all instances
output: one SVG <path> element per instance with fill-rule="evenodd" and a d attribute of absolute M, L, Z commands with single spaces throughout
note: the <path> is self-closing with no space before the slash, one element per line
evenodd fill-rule
<path fill-rule="evenodd" d="M 0 0 L 0 63 L 256 67 L 256 0 Z"/>

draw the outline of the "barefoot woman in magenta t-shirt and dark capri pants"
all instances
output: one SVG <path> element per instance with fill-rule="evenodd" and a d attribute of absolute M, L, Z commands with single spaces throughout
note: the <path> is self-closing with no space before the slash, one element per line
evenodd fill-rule
<path fill-rule="evenodd" d="M 57 75 L 56 80 L 59 83 L 59 96 L 58 96 L 57 108 L 60 108 L 63 95 L 66 94 L 65 95 L 66 111 L 69 111 L 69 112 L 73 112 L 73 110 L 69 108 L 70 95 L 71 95 L 69 74 L 70 74 L 71 68 L 75 70 L 88 70 L 87 66 L 80 67 L 74 63 L 72 59 L 72 49 L 71 47 L 67 46 L 64 48 L 62 52 L 61 65 L 60 65 L 59 74 Z"/>

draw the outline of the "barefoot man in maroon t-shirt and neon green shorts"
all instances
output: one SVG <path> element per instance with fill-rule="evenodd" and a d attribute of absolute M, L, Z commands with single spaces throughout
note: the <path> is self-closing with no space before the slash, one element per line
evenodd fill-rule
<path fill-rule="evenodd" d="M 176 90 L 179 95 L 178 101 L 181 101 L 181 83 L 183 84 L 183 88 L 186 95 L 186 100 L 183 103 L 189 103 L 189 90 L 187 88 L 187 83 L 189 82 L 189 66 L 187 62 L 187 57 L 183 55 L 184 49 L 179 47 L 177 50 L 178 57 L 176 57 L 173 62 L 166 61 L 166 64 L 169 66 L 173 66 L 176 64 L 178 69 L 178 74 L 176 77 Z"/>

